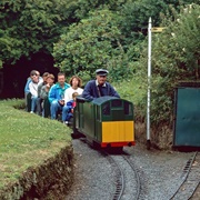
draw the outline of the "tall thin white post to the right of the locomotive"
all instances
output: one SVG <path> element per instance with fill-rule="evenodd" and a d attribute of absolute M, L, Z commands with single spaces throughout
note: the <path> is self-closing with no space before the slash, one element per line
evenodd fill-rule
<path fill-rule="evenodd" d="M 148 100 L 147 100 L 147 148 L 150 149 L 150 89 L 151 89 L 151 18 L 148 26 Z"/>

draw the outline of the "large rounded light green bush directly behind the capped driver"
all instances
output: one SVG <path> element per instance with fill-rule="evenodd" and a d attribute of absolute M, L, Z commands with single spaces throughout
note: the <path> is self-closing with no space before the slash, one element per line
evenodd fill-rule
<path fill-rule="evenodd" d="M 117 21 L 118 16 L 103 9 L 90 12 L 88 19 L 70 26 L 53 49 L 60 70 L 67 74 L 84 71 L 92 77 L 97 68 L 119 69 L 124 54 L 118 40 Z"/>

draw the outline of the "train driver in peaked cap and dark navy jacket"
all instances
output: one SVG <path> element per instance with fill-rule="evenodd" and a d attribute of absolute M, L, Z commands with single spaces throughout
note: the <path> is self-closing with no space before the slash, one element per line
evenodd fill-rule
<path fill-rule="evenodd" d="M 104 69 L 96 70 L 96 80 L 90 80 L 82 92 L 82 97 L 89 101 L 103 96 L 120 98 L 113 87 L 107 82 L 108 71 Z"/>

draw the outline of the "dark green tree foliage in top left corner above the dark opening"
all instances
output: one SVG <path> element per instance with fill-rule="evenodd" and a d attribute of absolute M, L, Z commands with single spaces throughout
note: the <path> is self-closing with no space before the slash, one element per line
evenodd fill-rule
<path fill-rule="evenodd" d="M 0 63 L 14 63 L 31 52 L 51 52 L 69 22 L 76 1 L 18 0 L 0 2 Z M 1 67 L 0 66 L 0 67 Z"/>

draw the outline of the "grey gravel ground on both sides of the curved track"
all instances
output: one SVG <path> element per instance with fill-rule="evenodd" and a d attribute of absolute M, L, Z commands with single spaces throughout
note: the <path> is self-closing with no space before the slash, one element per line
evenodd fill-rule
<path fill-rule="evenodd" d="M 81 140 L 73 140 L 72 143 L 76 159 L 74 183 L 66 200 L 112 199 L 116 191 L 114 171 L 108 159 Z M 124 150 L 131 154 L 131 160 L 139 171 L 141 179 L 139 199 L 142 200 L 169 200 L 181 181 L 187 161 L 193 154 L 193 152 L 147 150 L 139 143 Z M 127 183 L 126 187 L 131 187 L 131 183 Z M 128 193 L 123 199 L 127 199 L 126 197 L 134 199 Z"/>

